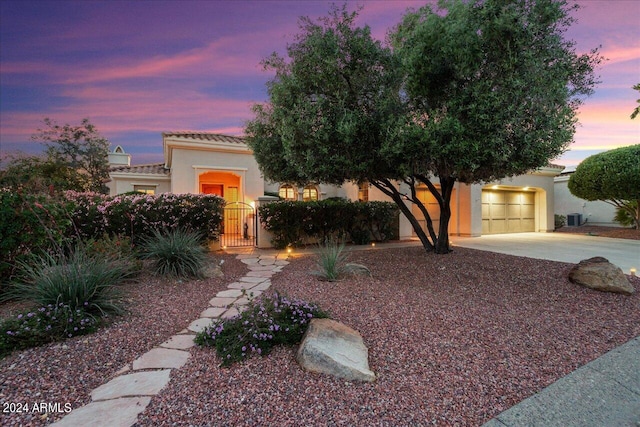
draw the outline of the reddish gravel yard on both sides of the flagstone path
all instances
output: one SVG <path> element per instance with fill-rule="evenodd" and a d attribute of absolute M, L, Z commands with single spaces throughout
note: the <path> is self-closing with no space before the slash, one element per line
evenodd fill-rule
<path fill-rule="evenodd" d="M 89 401 L 127 362 L 183 329 L 246 272 L 227 256 L 224 279 L 133 286 L 133 316 L 93 336 L 0 360 L 0 401 Z M 357 251 L 372 277 L 322 282 L 314 257 L 294 258 L 272 289 L 318 303 L 358 330 L 375 383 L 301 370 L 295 348 L 230 368 L 194 348 L 139 416 L 139 426 L 480 425 L 577 367 L 640 335 L 640 279 L 630 297 L 567 280 L 570 264 L 457 248 Z M 46 425 L 0 414 L 0 425 Z"/>

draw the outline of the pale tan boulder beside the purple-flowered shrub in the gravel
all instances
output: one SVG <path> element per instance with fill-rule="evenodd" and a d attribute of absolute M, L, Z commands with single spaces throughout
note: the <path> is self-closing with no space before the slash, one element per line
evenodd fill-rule
<path fill-rule="evenodd" d="M 298 363 L 308 371 L 349 381 L 375 381 L 368 357 L 362 336 L 331 319 L 311 320 L 297 354 Z"/>

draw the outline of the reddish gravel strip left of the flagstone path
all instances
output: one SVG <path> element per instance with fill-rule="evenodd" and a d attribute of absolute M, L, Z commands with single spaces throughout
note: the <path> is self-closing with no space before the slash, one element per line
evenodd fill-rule
<path fill-rule="evenodd" d="M 70 403 L 78 408 L 90 402 L 89 393 L 107 382 L 127 363 L 186 328 L 208 306 L 208 301 L 246 266 L 231 255 L 224 259 L 224 278 L 178 282 L 147 276 L 127 284 L 130 316 L 114 321 L 93 335 L 14 353 L 0 360 L 0 426 L 41 426 L 62 414 L 6 413 L 8 403 Z M 4 304 L 1 315 L 18 304 Z"/>

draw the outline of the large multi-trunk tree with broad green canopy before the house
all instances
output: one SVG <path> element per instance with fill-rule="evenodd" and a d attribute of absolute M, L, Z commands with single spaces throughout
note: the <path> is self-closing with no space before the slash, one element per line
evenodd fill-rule
<path fill-rule="evenodd" d="M 447 253 L 455 182 L 525 173 L 562 153 L 599 57 L 563 40 L 572 22 L 563 1 L 440 7 L 408 13 L 391 34 L 393 50 L 345 8 L 319 23 L 303 19 L 289 61 L 265 61 L 276 72 L 269 103 L 255 106 L 247 134 L 267 178 L 368 180 L 425 248 Z M 440 206 L 437 231 L 421 185 Z"/>

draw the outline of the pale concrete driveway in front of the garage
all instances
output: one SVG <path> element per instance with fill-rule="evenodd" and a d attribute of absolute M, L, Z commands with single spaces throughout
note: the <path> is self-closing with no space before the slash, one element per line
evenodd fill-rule
<path fill-rule="evenodd" d="M 601 256 L 625 274 L 635 268 L 640 274 L 640 240 L 610 239 L 569 233 L 515 233 L 481 237 L 452 236 L 451 242 L 463 248 L 552 261 L 578 263 Z"/>

